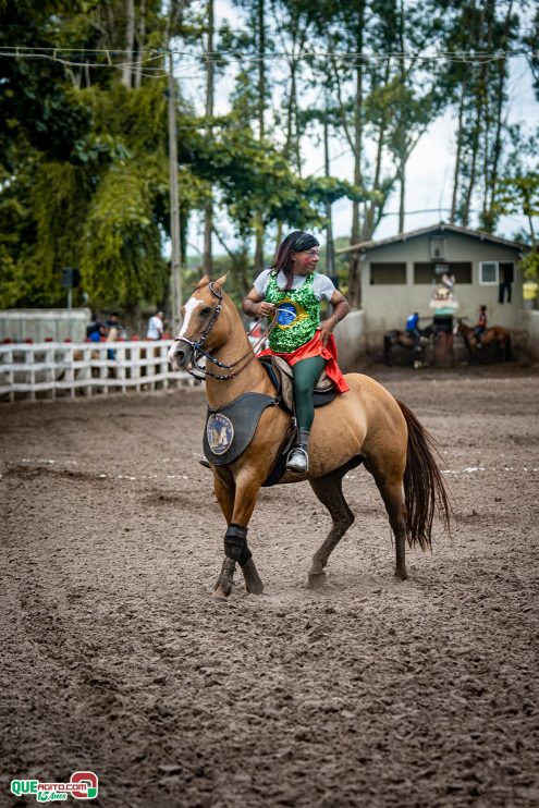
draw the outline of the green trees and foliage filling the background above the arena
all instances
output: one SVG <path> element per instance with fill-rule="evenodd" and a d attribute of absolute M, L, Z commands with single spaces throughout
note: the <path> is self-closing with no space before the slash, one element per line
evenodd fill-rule
<path fill-rule="evenodd" d="M 471 192 L 482 183 L 483 227 L 493 230 L 504 212 L 524 212 L 527 238 L 534 243 L 537 149 L 526 146 L 527 161 L 502 159 L 511 134 L 503 124 L 506 60 L 445 69 L 440 60 L 357 62 L 319 56 L 358 49 L 419 52 L 427 45 L 503 50 L 518 36 L 509 0 L 471 5 L 425 0 L 417 8 L 396 0 L 236 0 L 236 5 L 245 14 L 245 29 L 224 26 L 215 37 L 222 57 L 216 74 L 226 66 L 235 71 L 229 111 L 201 117 L 197 110 L 204 98 L 196 98 L 195 109 L 180 89 L 187 86 L 196 97 L 203 83 L 183 85 L 180 78 L 176 87 L 182 252 L 189 216 L 211 200 L 213 225 L 225 219 L 236 236 L 234 249 L 224 245 L 228 257 L 216 259 L 215 267 L 216 272 L 224 265 L 232 269 L 233 294 L 240 297 L 250 283 L 254 236 L 262 230 L 320 230 L 327 206 L 346 198 L 356 203 L 356 222 L 363 217 L 356 234 L 370 237 L 390 195 L 404 181 L 406 161 L 422 132 L 444 105 L 461 99 L 456 208 L 464 218 Z M 0 46 L 46 48 L 49 53 L 93 50 L 87 64 L 0 60 L 0 306 L 63 304 L 64 266 L 82 270 L 89 305 L 133 308 L 143 301 L 151 305 L 166 299 L 168 85 L 152 71 L 166 66 L 168 13 L 160 0 L 135 3 L 135 49 L 145 49 L 145 62 L 139 81 L 135 66 L 124 81 L 105 51 L 125 48 L 126 9 L 125 0 L 0 0 Z M 185 46 L 198 58 L 208 34 L 207 8 L 186 3 L 184 11 L 169 33 L 177 37 L 174 47 Z M 534 41 L 531 34 L 523 38 L 537 73 Z M 277 51 L 286 57 L 274 60 Z M 73 54 L 68 61 L 83 58 Z M 358 156 L 356 184 L 302 175 L 303 138 L 318 137 L 321 145 L 323 122 L 333 138 L 336 133 Z M 518 150 L 526 149 L 515 146 L 514 155 Z M 220 234 L 218 238 L 224 244 Z M 532 255 L 526 259 L 530 267 Z M 338 256 L 344 290 L 346 261 Z"/>

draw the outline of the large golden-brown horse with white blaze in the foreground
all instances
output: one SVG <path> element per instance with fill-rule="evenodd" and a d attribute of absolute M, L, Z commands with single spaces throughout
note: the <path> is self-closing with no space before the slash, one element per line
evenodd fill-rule
<path fill-rule="evenodd" d="M 255 358 L 234 304 L 222 291 L 224 280 L 225 276 L 210 283 L 207 277 L 203 278 L 183 308 L 182 329 L 169 352 L 176 370 L 200 369 L 197 363 L 201 356 L 206 358 L 206 393 L 211 412 L 232 405 L 245 393 L 275 395 L 266 370 Z M 407 578 L 406 540 L 411 547 L 430 548 L 437 507 L 449 527 L 444 482 L 428 432 L 404 404 L 373 379 L 347 374 L 346 381 L 348 392 L 316 411 L 308 474 L 285 472 L 279 480 L 307 479 L 333 523 L 313 558 L 310 586 L 323 581 L 330 553 L 354 522 L 343 495 L 342 479 L 360 463 L 376 480 L 395 535 L 399 578 Z M 225 558 L 213 590 L 216 598 L 230 595 L 236 562 L 247 590 L 260 593 L 264 589 L 247 547 L 247 526 L 290 426 L 289 412 L 268 406 L 247 449 L 233 462 L 211 465 L 215 492 L 228 525 Z"/>

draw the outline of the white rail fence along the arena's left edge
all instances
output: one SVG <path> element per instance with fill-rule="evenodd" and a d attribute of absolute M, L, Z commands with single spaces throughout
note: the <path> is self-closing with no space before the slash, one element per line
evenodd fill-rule
<path fill-rule="evenodd" d="M 93 395 L 192 384 L 169 368 L 170 340 L 0 345 L 0 399 Z"/>

